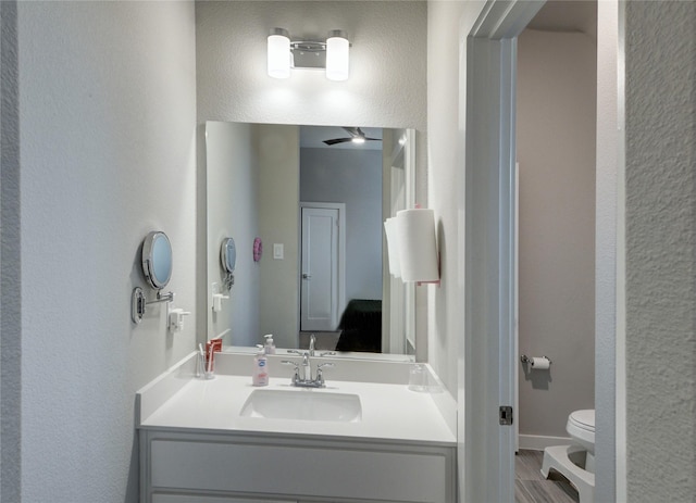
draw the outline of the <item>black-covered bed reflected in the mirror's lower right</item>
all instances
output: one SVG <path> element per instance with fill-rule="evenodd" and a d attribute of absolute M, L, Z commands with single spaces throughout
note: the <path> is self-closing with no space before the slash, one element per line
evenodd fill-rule
<path fill-rule="evenodd" d="M 382 352 L 382 301 L 352 299 L 338 325 L 336 351 Z"/>

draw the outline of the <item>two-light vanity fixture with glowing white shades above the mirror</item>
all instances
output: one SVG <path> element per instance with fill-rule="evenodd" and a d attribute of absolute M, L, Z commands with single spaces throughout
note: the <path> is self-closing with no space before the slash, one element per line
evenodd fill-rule
<path fill-rule="evenodd" d="M 272 28 L 268 39 L 268 72 L 287 78 L 290 68 L 325 70 L 330 80 L 348 79 L 350 42 L 340 29 L 332 29 L 325 42 L 291 41 L 287 29 Z"/>

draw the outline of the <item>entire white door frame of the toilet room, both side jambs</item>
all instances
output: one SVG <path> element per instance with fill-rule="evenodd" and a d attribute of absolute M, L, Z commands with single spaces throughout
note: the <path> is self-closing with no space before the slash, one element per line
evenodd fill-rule
<path fill-rule="evenodd" d="M 488 0 L 460 46 L 467 61 L 460 501 L 514 501 L 512 428 L 496 431 L 494 426 L 498 405 L 510 397 L 510 372 L 518 368 L 518 362 L 510 361 L 513 282 L 507 271 L 513 237 L 509 175 L 515 161 L 515 40 L 544 3 Z M 623 9 L 623 2 L 611 0 L 598 2 L 597 11 L 597 85 L 605 102 L 600 105 L 598 96 L 595 498 L 602 501 L 625 501 L 626 494 Z"/>

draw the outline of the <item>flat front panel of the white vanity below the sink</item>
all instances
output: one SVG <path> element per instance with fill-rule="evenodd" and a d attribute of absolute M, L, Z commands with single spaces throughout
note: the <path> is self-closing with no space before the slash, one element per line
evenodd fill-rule
<path fill-rule="evenodd" d="M 444 503 L 448 461 L 437 449 L 153 439 L 149 470 L 154 490 Z"/>

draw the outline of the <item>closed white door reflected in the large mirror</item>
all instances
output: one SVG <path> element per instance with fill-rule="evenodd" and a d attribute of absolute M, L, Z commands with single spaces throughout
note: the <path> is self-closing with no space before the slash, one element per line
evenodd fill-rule
<path fill-rule="evenodd" d="M 339 209 L 301 208 L 300 330 L 338 326 Z"/>

